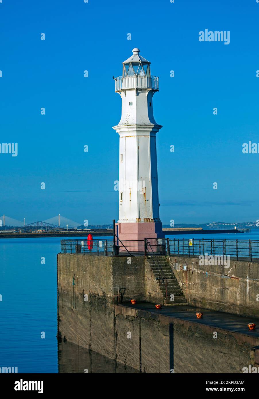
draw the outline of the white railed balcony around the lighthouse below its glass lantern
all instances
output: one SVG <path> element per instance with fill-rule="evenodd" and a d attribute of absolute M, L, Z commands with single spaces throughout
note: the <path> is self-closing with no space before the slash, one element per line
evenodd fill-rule
<path fill-rule="evenodd" d="M 157 76 L 119 76 L 115 78 L 115 91 L 128 89 L 158 90 Z"/>

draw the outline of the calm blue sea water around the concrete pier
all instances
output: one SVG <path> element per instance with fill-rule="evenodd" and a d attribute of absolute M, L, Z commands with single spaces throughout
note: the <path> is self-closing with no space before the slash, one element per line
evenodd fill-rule
<path fill-rule="evenodd" d="M 175 237 L 193 238 L 192 233 Z M 73 237 L 76 238 L 87 237 Z M 194 235 L 194 239 L 199 238 L 259 240 L 259 232 Z M 83 364 L 89 361 L 93 372 L 114 372 L 112 361 L 95 355 L 96 365 L 93 365 L 93 354 L 77 351 L 73 344 L 62 343 L 58 356 L 56 257 L 59 252 L 60 237 L 0 239 L 0 367 L 18 367 L 18 372 L 24 373 L 83 372 L 79 365 L 84 356 Z M 45 265 L 41 263 L 42 257 Z M 42 332 L 45 339 L 41 338 Z M 117 372 L 129 371 L 121 368 Z"/>

